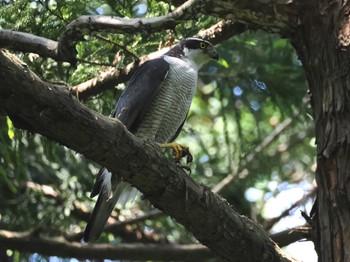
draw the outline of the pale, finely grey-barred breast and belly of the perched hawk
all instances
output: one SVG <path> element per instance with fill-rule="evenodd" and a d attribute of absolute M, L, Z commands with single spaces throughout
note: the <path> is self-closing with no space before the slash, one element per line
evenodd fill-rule
<path fill-rule="evenodd" d="M 169 73 L 154 95 L 135 135 L 166 143 L 184 122 L 197 87 L 198 70 L 191 62 L 165 56 Z"/>

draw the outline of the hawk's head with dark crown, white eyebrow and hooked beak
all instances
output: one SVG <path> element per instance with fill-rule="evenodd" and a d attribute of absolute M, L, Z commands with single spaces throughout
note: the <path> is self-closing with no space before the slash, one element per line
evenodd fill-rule
<path fill-rule="evenodd" d="M 195 37 L 183 39 L 168 52 L 168 55 L 185 57 L 198 69 L 211 59 L 219 59 L 218 52 L 210 42 Z"/>

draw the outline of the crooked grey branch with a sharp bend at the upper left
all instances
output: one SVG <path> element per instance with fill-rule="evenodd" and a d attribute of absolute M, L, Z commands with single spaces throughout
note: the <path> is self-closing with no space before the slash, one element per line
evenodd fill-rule
<path fill-rule="evenodd" d="M 200 9 L 201 1 L 188 0 L 167 15 L 152 18 L 120 18 L 112 16 L 81 16 L 71 22 L 60 36 L 58 42 L 28 33 L 0 29 L 0 46 L 18 51 L 33 52 L 57 61 L 76 65 L 75 45 L 93 32 L 136 33 L 156 32 L 174 28 L 183 20 L 188 20 Z"/>

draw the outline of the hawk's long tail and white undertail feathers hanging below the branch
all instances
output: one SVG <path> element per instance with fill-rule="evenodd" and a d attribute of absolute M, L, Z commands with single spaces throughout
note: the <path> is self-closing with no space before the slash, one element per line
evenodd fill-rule
<path fill-rule="evenodd" d="M 85 228 L 83 238 L 85 242 L 96 241 L 115 205 L 117 203 L 125 205 L 129 201 L 134 201 L 139 191 L 118 179 L 117 176 L 112 176 L 106 168 L 102 168 L 97 175 L 90 197 L 95 197 L 97 194 L 99 195 L 97 202 Z"/>

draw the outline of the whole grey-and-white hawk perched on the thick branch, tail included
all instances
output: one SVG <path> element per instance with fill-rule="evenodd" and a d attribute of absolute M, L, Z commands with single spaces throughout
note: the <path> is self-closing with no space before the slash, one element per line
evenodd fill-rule
<path fill-rule="evenodd" d="M 173 148 L 175 159 L 181 158 L 188 147 L 174 140 L 185 123 L 197 89 L 198 70 L 218 58 L 209 41 L 198 37 L 181 40 L 135 71 L 111 116 L 136 137 L 153 140 L 162 148 Z M 90 197 L 96 195 L 99 196 L 84 231 L 85 242 L 97 241 L 115 205 L 133 201 L 138 190 L 107 168 L 101 168 Z"/>

